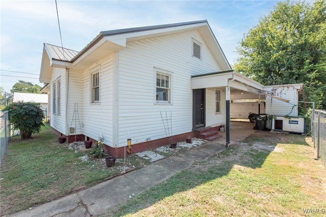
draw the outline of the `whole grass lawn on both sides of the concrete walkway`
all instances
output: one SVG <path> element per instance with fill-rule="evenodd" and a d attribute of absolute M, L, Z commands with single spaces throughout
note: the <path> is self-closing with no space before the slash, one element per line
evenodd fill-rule
<path fill-rule="evenodd" d="M 315 156 L 301 135 L 251 135 L 103 216 L 307 216 L 304 209 L 315 215 L 326 211 L 326 168 Z M 112 168 L 82 159 L 85 153 L 59 144 L 47 124 L 30 140 L 13 137 L 1 166 L 1 215 L 149 164 L 135 155 Z"/>

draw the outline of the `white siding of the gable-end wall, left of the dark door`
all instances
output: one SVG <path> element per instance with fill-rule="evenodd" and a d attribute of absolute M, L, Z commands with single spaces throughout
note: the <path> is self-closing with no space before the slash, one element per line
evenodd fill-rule
<path fill-rule="evenodd" d="M 192 56 L 193 39 L 202 44 L 202 61 Z M 153 103 L 153 67 L 173 72 L 173 103 Z M 191 76 L 216 71 L 220 67 L 197 30 L 128 43 L 119 51 L 119 146 L 128 138 L 136 144 L 191 132 Z"/>

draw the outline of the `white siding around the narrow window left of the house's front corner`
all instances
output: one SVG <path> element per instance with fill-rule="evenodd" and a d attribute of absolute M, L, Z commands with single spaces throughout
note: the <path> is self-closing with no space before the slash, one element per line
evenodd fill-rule
<path fill-rule="evenodd" d="M 113 59 L 114 54 L 83 70 L 83 134 L 92 139 L 104 137 L 104 143 L 114 146 L 113 142 Z M 92 102 L 92 76 L 99 72 L 99 100 Z M 80 77 L 80 76 L 79 76 Z M 117 84 L 118 85 L 118 84 Z M 80 95 L 80 93 L 79 93 Z M 119 103 L 119 102 L 117 102 Z M 80 114 L 80 113 L 79 113 Z M 118 114 L 116 114 L 118 115 Z"/>

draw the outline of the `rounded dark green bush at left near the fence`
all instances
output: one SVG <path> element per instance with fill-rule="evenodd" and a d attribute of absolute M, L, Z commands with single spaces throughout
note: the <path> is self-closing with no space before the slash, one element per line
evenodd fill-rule
<path fill-rule="evenodd" d="M 44 126 L 44 113 L 38 104 L 12 103 L 4 110 L 8 111 L 9 122 L 14 130 L 20 130 L 22 139 L 32 138 L 32 134 L 39 133 L 41 126 Z"/>

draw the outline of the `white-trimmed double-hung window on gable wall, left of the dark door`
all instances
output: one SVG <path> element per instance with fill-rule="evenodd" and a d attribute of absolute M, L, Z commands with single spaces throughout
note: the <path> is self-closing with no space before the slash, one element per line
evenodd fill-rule
<path fill-rule="evenodd" d="M 156 103 L 171 103 L 171 76 L 172 73 L 155 69 L 156 74 Z"/>

